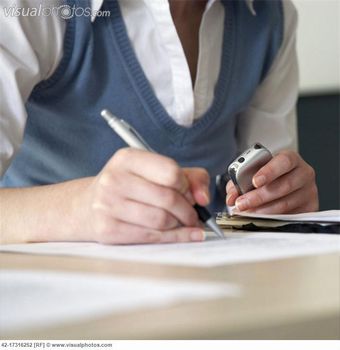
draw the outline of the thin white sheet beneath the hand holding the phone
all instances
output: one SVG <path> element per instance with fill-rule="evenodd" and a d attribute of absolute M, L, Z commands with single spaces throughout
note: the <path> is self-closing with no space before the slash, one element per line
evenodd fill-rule
<path fill-rule="evenodd" d="M 282 221 L 340 223 L 340 210 L 326 210 L 326 211 L 317 211 L 313 213 L 280 214 L 280 215 L 245 213 L 245 212 L 235 212 L 235 214 L 249 217 L 249 218 L 261 218 L 261 219 L 272 219 L 272 220 L 282 220 Z"/>

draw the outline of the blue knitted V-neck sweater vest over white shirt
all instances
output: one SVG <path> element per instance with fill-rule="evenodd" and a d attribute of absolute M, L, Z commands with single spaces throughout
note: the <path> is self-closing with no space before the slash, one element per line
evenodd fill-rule
<path fill-rule="evenodd" d="M 167 114 L 134 54 L 117 1 L 105 1 L 110 17 L 67 21 L 64 56 L 26 104 L 23 145 L 1 187 L 51 184 L 96 175 L 126 145 L 100 117 L 110 109 L 132 124 L 157 152 L 183 167 L 204 167 L 211 176 L 212 210 L 224 206 L 215 177 L 237 152 L 237 115 L 249 103 L 281 46 L 281 1 L 245 1 L 226 7 L 220 75 L 209 110 L 191 127 Z M 69 1 L 88 7 L 89 1 Z M 146 48 L 147 50 L 147 48 Z M 260 141 L 260 140 L 259 140 Z M 147 164 L 145 165 L 147 166 Z"/>

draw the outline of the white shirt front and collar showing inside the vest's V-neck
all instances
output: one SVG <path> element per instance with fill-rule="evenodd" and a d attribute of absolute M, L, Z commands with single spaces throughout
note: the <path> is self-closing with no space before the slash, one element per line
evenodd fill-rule
<path fill-rule="evenodd" d="M 194 86 L 169 2 L 121 0 L 120 7 L 136 56 L 157 98 L 176 123 L 192 125 L 213 100 L 221 61 L 224 6 L 218 0 L 209 0 L 203 13 Z"/>

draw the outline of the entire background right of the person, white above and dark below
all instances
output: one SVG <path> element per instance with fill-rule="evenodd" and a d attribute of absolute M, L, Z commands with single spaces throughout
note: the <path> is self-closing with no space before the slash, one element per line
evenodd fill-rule
<path fill-rule="evenodd" d="M 293 0 L 299 13 L 299 147 L 320 209 L 340 209 L 340 0 Z"/>

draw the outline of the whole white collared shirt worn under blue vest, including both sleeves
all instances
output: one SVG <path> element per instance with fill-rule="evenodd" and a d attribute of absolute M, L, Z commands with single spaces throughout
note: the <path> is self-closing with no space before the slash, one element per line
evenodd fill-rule
<path fill-rule="evenodd" d="M 252 0 L 245 1 L 249 11 L 256 15 Z M 207 3 L 199 30 L 197 76 L 192 86 L 168 1 L 119 2 L 131 44 L 157 98 L 176 123 L 192 125 L 213 101 L 220 70 L 224 6 L 219 0 Z M 50 77 L 62 58 L 66 27 L 65 20 L 58 16 L 6 16 L 5 8 L 13 3 L 18 7 L 37 7 L 37 0 L 0 2 L 0 176 L 22 142 L 27 118 L 25 102 L 33 87 Z M 50 0 L 49 6 L 57 7 L 61 3 Z M 94 13 L 101 9 L 102 3 L 103 0 L 92 0 Z M 290 0 L 284 1 L 284 12 L 282 47 L 268 76 L 239 116 L 240 150 L 256 141 L 274 152 L 296 147 L 297 16 Z"/>

